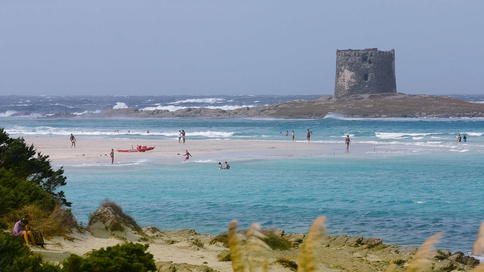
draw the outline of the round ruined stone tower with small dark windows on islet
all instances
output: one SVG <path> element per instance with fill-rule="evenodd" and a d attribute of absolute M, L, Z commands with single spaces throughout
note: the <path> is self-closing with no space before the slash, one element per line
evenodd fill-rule
<path fill-rule="evenodd" d="M 396 92 L 395 50 L 336 50 L 334 97 Z"/>

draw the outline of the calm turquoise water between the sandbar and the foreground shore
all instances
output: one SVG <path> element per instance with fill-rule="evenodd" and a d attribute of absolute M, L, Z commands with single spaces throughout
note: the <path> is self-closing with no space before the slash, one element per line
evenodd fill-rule
<path fill-rule="evenodd" d="M 452 155 L 451 155 L 452 154 Z M 216 164 L 66 166 L 63 189 L 80 221 L 109 196 L 142 226 L 218 234 L 232 219 L 418 246 L 445 231 L 441 248 L 469 252 L 484 219 L 480 154 L 345 154 Z"/>

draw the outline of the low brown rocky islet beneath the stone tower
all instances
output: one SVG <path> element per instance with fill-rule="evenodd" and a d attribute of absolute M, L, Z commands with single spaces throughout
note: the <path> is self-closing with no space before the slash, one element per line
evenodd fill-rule
<path fill-rule="evenodd" d="M 381 93 L 353 95 L 335 99 L 323 95 L 317 100 L 295 100 L 269 106 L 242 107 L 233 110 L 184 108 L 176 111 L 139 110 L 136 108 L 106 109 L 84 113 L 83 118 L 297 118 L 320 119 L 330 113 L 360 118 L 419 117 L 484 117 L 484 104 L 470 103 L 449 96 Z M 47 118 L 78 117 L 70 112 L 46 113 Z"/>

